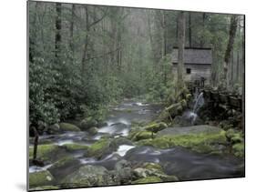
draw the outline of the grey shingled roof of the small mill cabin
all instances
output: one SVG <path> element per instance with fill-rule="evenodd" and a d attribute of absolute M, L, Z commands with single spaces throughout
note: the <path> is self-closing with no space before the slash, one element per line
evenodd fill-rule
<path fill-rule="evenodd" d="M 178 64 L 178 48 L 174 47 L 171 55 L 172 63 Z M 211 48 L 185 47 L 184 64 L 211 65 Z"/>

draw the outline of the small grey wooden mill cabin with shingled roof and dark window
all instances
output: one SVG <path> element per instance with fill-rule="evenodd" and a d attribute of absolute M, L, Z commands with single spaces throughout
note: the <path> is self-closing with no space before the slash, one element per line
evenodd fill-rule
<path fill-rule="evenodd" d="M 171 61 L 173 73 L 177 74 L 178 47 L 172 51 Z M 184 80 L 187 83 L 204 81 L 210 84 L 210 68 L 212 64 L 211 48 L 185 47 L 184 50 Z"/>

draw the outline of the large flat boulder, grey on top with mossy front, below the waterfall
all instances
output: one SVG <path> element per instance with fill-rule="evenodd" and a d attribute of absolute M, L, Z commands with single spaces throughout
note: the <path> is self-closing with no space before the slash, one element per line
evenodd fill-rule
<path fill-rule="evenodd" d="M 180 129 L 180 130 L 179 130 Z M 211 129 L 211 130 L 208 130 Z M 227 143 L 226 132 L 219 128 L 205 126 L 176 127 L 163 130 L 156 138 L 138 141 L 140 146 L 158 148 L 186 147 L 200 153 L 220 151 L 218 145 Z"/>

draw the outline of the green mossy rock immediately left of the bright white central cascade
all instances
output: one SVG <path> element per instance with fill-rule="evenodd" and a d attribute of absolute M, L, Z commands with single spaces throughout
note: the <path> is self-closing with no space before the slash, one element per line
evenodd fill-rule
<path fill-rule="evenodd" d="M 88 147 L 87 156 L 89 157 L 101 157 L 101 155 L 108 150 L 110 139 L 102 138 Z"/>

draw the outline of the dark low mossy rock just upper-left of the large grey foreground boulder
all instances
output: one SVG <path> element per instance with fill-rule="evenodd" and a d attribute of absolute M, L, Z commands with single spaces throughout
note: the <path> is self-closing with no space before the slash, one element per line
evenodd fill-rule
<path fill-rule="evenodd" d="M 79 167 L 79 163 L 79 160 L 75 157 L 63 157 L 49 167 L 48 170 L 57 180 L 60 180 L 66 177 L 68 173 L 76 170 Z"/>

